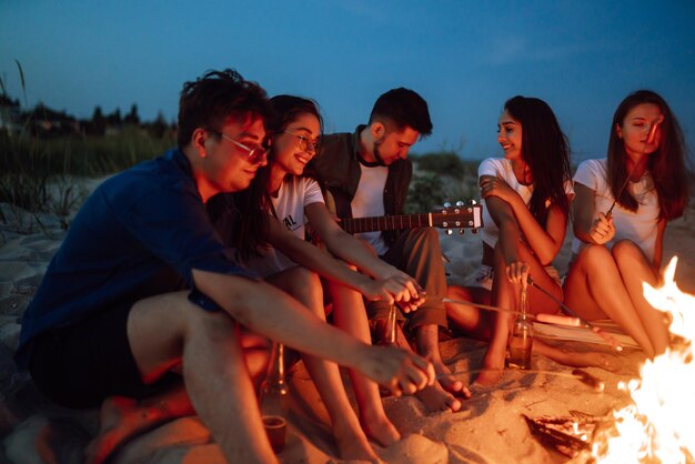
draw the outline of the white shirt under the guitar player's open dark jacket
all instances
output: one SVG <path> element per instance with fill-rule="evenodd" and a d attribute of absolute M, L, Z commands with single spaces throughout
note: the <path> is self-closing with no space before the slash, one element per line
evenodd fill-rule
<path fill-rule="evenodd" d="M 389 168 L 382 165 L 365 167 L 362 163 L 360 163 L 360 168 L 362 170 L 360 183 L 350 203 L 352 216 L 373 218 L 385 215 L 384 188 L 386 186 Z M 355 236 L 371 243 L 380 256 L 389 251 L 381 232 L 355 233 Z"/>

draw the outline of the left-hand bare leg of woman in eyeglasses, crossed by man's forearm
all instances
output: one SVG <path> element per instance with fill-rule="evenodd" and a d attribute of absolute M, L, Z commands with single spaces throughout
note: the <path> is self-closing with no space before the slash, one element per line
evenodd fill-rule
<path fill-rule="evenodd" d="M 298 266 L 272 275 L 268 281 L 296 297 L 318 317 L 325 321 L 323 292 L 316 274 Z M 303 354 L 302 357 L 331 416 L 333 436 L 341 457 L 377 461 L 350 404 L 338 365 L 316 356 Z"/>

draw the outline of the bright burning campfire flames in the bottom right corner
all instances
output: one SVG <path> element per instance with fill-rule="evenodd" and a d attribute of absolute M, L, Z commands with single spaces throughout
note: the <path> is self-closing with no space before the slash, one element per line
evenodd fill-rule
<path fill-rule="evenodd" d="M 641 379 L 618 385 L 629 391 L 633 404 L 613 412 L 611 427 L 600 428 L 592 454 L 598 463 L 695 463 L 693 391 L 695 364 L 695 296 L 678 290 L 676 258 L 666 270 L 664 285 L 644 285 L 656 309 L 671 314 L 672 347 L 641 370 Z"/>

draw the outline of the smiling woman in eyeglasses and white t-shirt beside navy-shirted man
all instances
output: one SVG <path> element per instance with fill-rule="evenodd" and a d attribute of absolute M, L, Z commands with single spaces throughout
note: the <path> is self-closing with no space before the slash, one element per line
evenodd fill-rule
<path fill-rule="evenodd" d="M 375 279 L 372 282 L 391 282 L 393 289 L 407 289 L 413 299 L 402 300 L 405 311 L 414 310 L 422 302 L 417 293 L 420 285 L 407 274 L 372 254 L 357 239 L 344 232 L 325 206 L 319 183 L 303 176 L 306 163 L 316 155 L 322 119 L 316 104 L 299 97 L 278 95 L 271 99 L 275 117 L 266 121 L 270 153 L 268 165 L 261 168 L 248 192 L 242 196 L 245 208 L 256 204 L 262 198 L 266 213 L 295 236 L 304 240 L 306 226 L 320 236 L 328 251 L 336 256 L 342 266 L 356 268 Z M 256 210 L 256 214 L 262 213 Z M 272 233 L 271 233 L 272 235 Z M 272 244 L 273 240 L 269 240 Z M 319 256 L 326 253 L 311 245 Z M 242 250 L 244 251 L 244 250 Z M 246 250 L 248 251 L 248 250 Z M 325 320 L 323 285 L 318 274 L 326 278 L 314 264 L 314 253 L 301 252 L 288 256 L 273 248 L 252 250 L 246 265 L 264 279 L 286 291 L 312 312 Z M 302 265 L 298 263 L 301 262 Z M 316 273 L 310 271 L 314 270 Z M 353 272 L 355 275 L 363 275 Z M 355 285 L 346 285 L 341 279 L 328 275 L 325 286 L 331 294 L 333 323 L 364 343 L 371 343 L 369 322 L 363 294 L 373 299 Z M 308 334 L 310 336 L 310 334 Z M 348 399 L 336 364 L 314 356 L 303 356 L 326 406 L 333 425 L 333 434 L 343 460 L 376 461 L 369 438 L 389 446 L 400 440 L 400 433 L 386 417 L 379 386 L 362 374 L 350 371 L 359 406 L 355 415 Z"/>

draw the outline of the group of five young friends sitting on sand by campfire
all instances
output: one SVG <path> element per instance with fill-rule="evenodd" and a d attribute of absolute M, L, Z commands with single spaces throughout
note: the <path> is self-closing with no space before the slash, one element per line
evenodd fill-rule
<path fill-rule="evenodd" d="M 476 382 L 494 384 L 528 278 L 532 313 L 558 313 L 564 301 L 584 320 L 612 319 L 648 356 L 666 350 L 667 321 L 642 295 L 643 282 L 659 281 L 666 223 L 688 201 L 683 134 L 664 99 L 647 90 L 625 98 L 607 158 L 581 163 L 574 178 L 551 108 L 507 100 L 497 122 L 504 157 L 479 168 L 474 288 L 447 285 L 433 228 L 341 226 L 403 213 L 409 150 L 432 128 L 425 100 L 404 88 L 382 94 L 354 133 L 324 134 L 314 101 L 269 99 L 235 71 L 184 83 L 178 148 L 89 196 L 23 317 L 17 362 L 39 391 L 63 406 L 101 406 L 88 461 L 104 462 L 155 423 L 198 414 L 230 463 L 276 462 L 256 397 L 273 341 L 301 353 L 340 457 L 375 462 L 371 443 L 401 437 L 380 385 L 430 411 L 459 411 L 471 393 L 443 363 L 440 331 L 451 324 L 488 341 Z M 552 263 L 571 211 L 563 284 Z M 372 344 L 394 305 L 397 346 Z M 543 343 L 534 350 L 595 362 Z"/>

